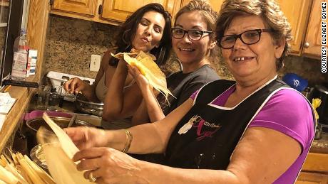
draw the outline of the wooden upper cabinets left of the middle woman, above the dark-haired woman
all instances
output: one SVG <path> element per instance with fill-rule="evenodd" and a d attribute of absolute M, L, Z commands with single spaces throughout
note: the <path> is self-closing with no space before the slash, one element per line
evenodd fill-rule
<path fill-rule="evenodd" d="M 123 23 L 141 6 L 162 4 L 172 16 L 180 9 L 180 0 L 53 0 L 51 13 L 88 21 Z"/>

